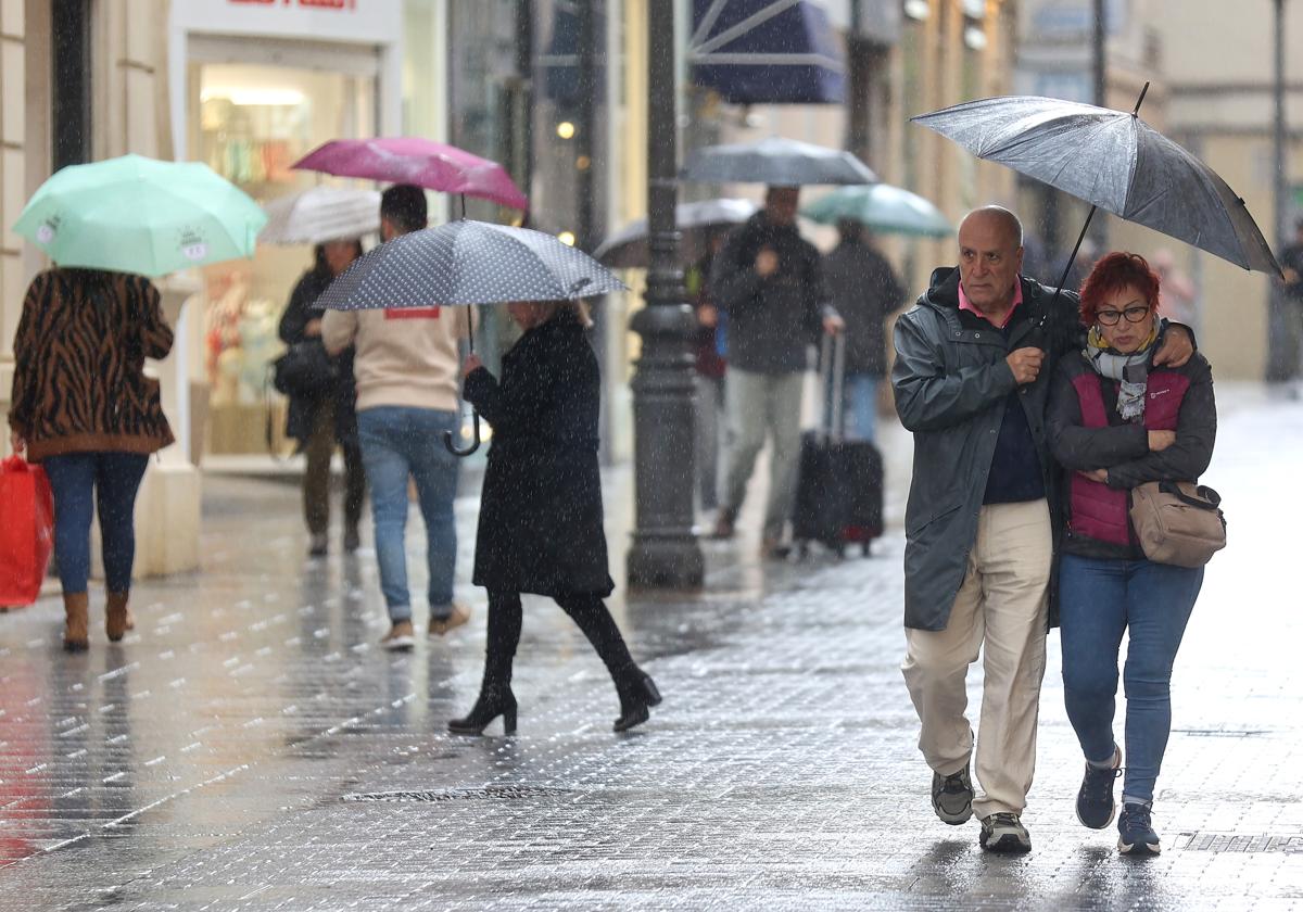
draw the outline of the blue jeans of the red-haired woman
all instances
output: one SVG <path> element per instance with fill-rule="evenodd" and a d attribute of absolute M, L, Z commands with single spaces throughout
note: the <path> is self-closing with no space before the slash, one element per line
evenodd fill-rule
<path fill-rule="evenodd" d="M 1088 761 L 1113 758 L 1118 648 L 1130 632 L 1123 803 L 1153 801 L 1171 731 L 1171 666 L 1199 598 L 1204 568 L 1063 555 L 1059 637 L 1063 701 Z"/>

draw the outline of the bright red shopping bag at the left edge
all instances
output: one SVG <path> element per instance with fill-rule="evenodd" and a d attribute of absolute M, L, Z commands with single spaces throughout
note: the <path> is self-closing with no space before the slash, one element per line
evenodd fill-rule
<path fill-rule="evenodd" d="M 55 500 L 46 470 L 10 456 L 0 463 L 0 605 L 36 601 L 53 547 Z"/>

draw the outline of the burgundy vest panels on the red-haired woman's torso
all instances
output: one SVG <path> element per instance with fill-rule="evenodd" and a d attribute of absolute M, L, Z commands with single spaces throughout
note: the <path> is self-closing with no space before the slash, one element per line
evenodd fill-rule
<path fill-rule="evenodd" d="M 1104 404 L 1101 384 L 1104 378 L 1088 370 L 1072 379 L 1076 399 L 1081 406 L 1085 427 L 1108 427 L 1109 413 Z M 1181 400 L 1186 397 L 1190 379 L 1183 374 L 1158 370 L 1149 374 L 1145 384 L 1144 426 L 1151 431 L 1174 431 L 1181 416 Z M 1119 491 L 1108 485 L 1072 473 L 1072 519 L 1068 529 L 1074 535 L 1093 538 L 1110 545 L 1131 545 L 1128 516 L 1130 491 Z"/>

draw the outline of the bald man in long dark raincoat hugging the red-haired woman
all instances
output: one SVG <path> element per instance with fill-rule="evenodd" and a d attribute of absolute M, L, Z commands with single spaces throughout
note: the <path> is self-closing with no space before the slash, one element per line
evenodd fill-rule
<path fill-rule="evenodd" d="M 982 848 L 1028 851 L 1020 816 L 1036 760 L 1036 718 L 1058 528 L 1057 470 L 1045 434 L 1054 362 L 1081 345 L 1078 297 L 1020 275 L 1022 224 L 1006 208 L 969 212 L 959 267 L 938 268 L 896 321 L 896 410 L 913 431 L 906 508 L 902 671 L 946 823 L 981 818 Z M 1156 363 L 1179 366 L 1188 332 Z M 975 797 L 968 666 L 982 654 Z"/>

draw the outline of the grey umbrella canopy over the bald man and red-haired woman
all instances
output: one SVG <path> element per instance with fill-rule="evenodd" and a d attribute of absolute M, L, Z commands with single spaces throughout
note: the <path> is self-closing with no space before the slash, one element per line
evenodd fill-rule
<path fill-rule="evenodd" d="M 1135 113 L 1015 95 L 956 104 L 912 120 L 980 159 L 1127 221 L 1242 268 L 1280 275 L 1244 201 L 1212 168 Z"/>

